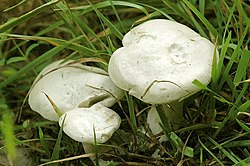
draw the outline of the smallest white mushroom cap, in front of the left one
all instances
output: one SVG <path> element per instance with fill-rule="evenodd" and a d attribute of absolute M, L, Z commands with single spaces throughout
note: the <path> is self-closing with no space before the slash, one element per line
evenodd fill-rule
<path fill-rule="evenodd" d="M 63 124 L 63 131 L 69 137 L 89 144 L 94 143 L 94 131 L 97 143 L 108 141 L 120 123 L 120 116 L 100 103 L 90 108 L 75 108 L 59 119 L 59 125 Z"/>

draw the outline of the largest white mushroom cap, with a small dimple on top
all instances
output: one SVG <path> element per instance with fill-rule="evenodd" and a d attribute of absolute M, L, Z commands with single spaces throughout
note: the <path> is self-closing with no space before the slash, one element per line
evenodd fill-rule
<path fill-rule="evenodd" d="M 214 45 L 177 22 L 156 19 L 129 31 L 109 62 L 109 75 L 121 89 L 151 104 L 169 103 L 208 84 Z"/>

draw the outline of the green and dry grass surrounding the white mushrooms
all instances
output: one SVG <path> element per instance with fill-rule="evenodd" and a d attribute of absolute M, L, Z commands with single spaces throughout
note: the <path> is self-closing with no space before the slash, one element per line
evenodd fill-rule
<path fill-rule="evenodd" d="M 108 165 L 250 165 L 248 1 L 38 0 L 34 5 L 13 0 L 0 6 L 0 144 L 4 152 L 0 158 L 6 158 L 7 165 L 17 165 L 20 148 L 29 152 L 33 165 L 93 164 L 88 158 L 93 154 L 84 154 L 82 145 L 67 137 L 57 123 L 29 108 L 28 91 L 36 75 L 57 59 L 80 60 L 107 70 L 123 35 L 154 18 L 186 24 L 216 44 L 220 57 L 213 64 L 212 81 L 208 86 L 193 82 L 202 91 L 185 99 L 181 128 L 171 128 L 161 118 L 169 138 L 162 143 L 159 135 L 147 136 L 140 130 L 147 129 L 149 105 L 126 95 L 113 106 L 123 119 L 104 145 L 113 150 L 96 151 L 96 156 L 110 161 Z M 161 156 L 153 158 L 156 149 Z"/>

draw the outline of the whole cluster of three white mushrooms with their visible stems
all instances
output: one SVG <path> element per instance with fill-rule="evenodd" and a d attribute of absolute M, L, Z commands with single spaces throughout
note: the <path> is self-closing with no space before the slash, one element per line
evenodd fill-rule
<path fill-rule="evenodd" d="M 164 19 L 134 27 L 122 44 L 110 58 L 108 73 L 73 61 L 47 66 L 30 91 L 31 109 L 59 121 L 67 135 L 86 147 L 95 136 L 98 143 L 106 142 L 119 128 L 119 115 L 108 107 L 124 96 L 123 90 L 153 105 L 147 117 L 153 134 L 162 131 L 154 105 L 163 105 L 169 121 L 179 123 L 181 100 L 200 90 L 192 82 L 210 82 L 215 46 L 189 27 Z"/>

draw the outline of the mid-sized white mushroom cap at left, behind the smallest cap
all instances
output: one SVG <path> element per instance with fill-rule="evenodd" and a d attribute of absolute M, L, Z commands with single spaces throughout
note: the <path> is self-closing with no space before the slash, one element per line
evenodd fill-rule
<path fill-rule="evenodd" d="M 48 120 L 58 121 L 59 117 L 45 94 L 62 113 L 98 102 L 110 107 L 123 97 L 123 91 L 104 70 L 70 62 L 60 60 L 41 71 L 29 94 L 32 110 Z"/>

